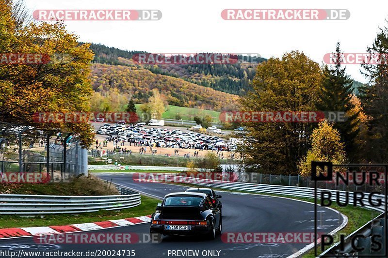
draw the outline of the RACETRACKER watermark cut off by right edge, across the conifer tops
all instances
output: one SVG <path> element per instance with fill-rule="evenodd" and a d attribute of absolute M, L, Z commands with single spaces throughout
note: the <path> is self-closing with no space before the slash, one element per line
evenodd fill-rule
<path fill-rule="evenodd" d="M 326 64 L 386 64 L 388 53 L 327 53 L 323 56 Z"/>

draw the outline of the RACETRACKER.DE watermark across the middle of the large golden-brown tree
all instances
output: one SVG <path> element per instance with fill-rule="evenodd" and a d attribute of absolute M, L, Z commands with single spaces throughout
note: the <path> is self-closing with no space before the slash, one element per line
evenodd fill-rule
<path fill-rule="evenodd" d="M 317 123 L 323 120 L 331 122 L 346 121 L 342 111 L 230 111 L 221 112 L 219 119 L 223 122 L 301 122 Z"/>

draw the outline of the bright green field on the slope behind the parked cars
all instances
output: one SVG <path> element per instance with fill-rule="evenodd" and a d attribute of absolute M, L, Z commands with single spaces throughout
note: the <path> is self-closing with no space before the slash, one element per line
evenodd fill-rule
<path fill-rule="evenodd" d="M 138 114 L 140 113 L 141 104 L 136 104 L 136 109 Z M 167 105 L 166 111 L 163 113 L 162 117 L 165 119 L 177 119 L 180 116 L 182 120 L 194 120 L 195 116 L 204 117 L 205 115 L 210 115 L 213 117 L 213 122 L 219 122 L 220 112 L 205 110 L 200 108 L 193 107 L 183 107 L 183 106 L 172 106 Z"/>

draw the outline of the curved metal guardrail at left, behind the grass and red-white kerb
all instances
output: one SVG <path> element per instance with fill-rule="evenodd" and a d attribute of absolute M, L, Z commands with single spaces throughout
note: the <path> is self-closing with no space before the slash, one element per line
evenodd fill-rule
<path fill-rule="evenodd" d="M 41 215 L 121 210 L 141 204 L 140 194 L 118 187 L 108 196 L 48 196 L 0 194 L 0 214 Z"/>

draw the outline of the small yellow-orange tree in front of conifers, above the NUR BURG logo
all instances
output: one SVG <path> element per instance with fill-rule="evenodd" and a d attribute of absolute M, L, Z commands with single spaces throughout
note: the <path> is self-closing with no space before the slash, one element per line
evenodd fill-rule
<path fill-rule="evenodd" d="M 311 135 L 311 149 L 299 163 L 299 174 L 311 175 L 311 161 L 331 161 L 343 164 L 346 161 L 345 145 L 341 142 L 339 131 L 327 121 L 319 123 Z"/>

